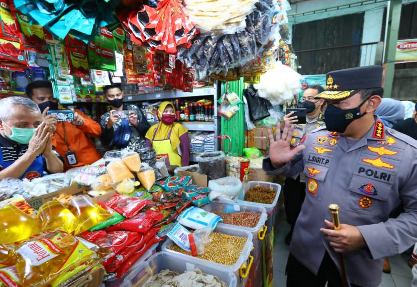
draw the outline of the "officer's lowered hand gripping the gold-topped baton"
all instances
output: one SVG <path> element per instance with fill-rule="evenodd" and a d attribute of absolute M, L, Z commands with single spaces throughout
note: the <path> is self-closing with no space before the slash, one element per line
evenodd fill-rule
<path fill-rule="evenodd" d="M 356 226 L 341 224 L 340 230 L 334 230 L 333 223 L 325 220 L 325 224 L 329 229 L 321 228 L 320 230 L 326 235 L 330 246 L 336 252 L 350 252 L 366 246 L 365 239 L 363 239 L 362 233 Z"/>

